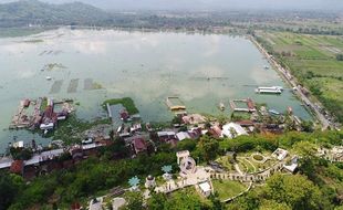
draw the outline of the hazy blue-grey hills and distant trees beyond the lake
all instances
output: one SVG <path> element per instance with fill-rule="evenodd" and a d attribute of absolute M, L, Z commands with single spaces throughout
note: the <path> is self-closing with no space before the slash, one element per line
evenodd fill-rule
<path fill-rule="evenodd" d="M 343 34 L 339 18 L 337 13 L 306 11 L 106 12 L 80 2 L 48 4 L 37 0 L 0 4 L 0 28 L 95 25 L 218 31 L 216 28 L 232 27 L 337 35 Z M 306 25 L 306 20 L 328 25 Z"/>

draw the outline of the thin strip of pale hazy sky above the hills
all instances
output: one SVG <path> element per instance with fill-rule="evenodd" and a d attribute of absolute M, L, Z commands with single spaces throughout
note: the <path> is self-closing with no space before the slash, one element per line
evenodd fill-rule
<path fill-rule="evenodd" d="M 1 3 L 18 0 L 0 0 Z M 342 0 L 41 0 L 49 3 L 83 2 L 104 10 L 314 10 L 343 11 Z M 343 12 L 342 12 L 343 13 Z"/>

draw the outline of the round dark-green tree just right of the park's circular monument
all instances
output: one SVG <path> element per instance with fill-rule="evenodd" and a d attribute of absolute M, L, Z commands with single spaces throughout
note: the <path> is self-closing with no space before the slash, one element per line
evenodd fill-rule
<path fill-rule="evenodd" d="M 202 136 L 198 144 L 199 150 L 202 154 L 205 160 L 210 160 L 217 157 L 219 151 L 219 143 L 217 139 L 209 136 Z"/>

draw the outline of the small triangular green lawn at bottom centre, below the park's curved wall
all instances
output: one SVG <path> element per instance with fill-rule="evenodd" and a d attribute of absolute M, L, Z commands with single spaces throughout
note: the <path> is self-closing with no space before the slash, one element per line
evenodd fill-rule
<path fill-rule="evenodd" d="M 235 197 L 247 189 L 243 183 L 231 180 L 212 180 L 212 185 L 220 200 Z"/>

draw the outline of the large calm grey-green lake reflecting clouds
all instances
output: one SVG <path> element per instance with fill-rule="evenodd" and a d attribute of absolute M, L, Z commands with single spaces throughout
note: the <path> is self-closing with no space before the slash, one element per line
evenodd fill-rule
<path fill-rule="evenodd" d="M 46 145 L 50 139 L 9 130 L 20 99 L 49 96 L 80 102 L 84 119 L 106 115 L 106 98 L 132 97 L 146 122 L 173 118 L 167 96 L 179 96 L 189 113 L 219 115 L 218 104 L 233 98 L 295 115 L 311 116 L 258 49 L 243 36 L 173 32 L 59 29 L 0 39 L 0 153 L 13 137 Z M 51 81 L 46 76 L 52 77 Z M 254 86 L 287 87 L 280 95 L 258 95 Z M 229 115 L 230 109 L 226 113 Z"/>

